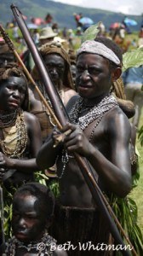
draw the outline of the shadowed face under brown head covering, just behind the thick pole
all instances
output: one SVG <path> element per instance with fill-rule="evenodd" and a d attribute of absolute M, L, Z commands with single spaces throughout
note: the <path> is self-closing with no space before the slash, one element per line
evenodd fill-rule
<path fill-rule="evenodd" d="M 60 55 L 49 54 L 45 55 L 43 60 L 54 85 L 58 85 L 60 80 L 63 81 L 65 75 L 66 64 L 64 59 Z"/>

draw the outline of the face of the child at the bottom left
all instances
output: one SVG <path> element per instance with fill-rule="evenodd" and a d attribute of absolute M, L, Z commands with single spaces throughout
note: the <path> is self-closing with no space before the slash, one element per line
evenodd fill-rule
<path fill-rule="evenodd" d="M 17 195 L 13 203 L 14 236 L 24 242 L 38 241 L 45 230 L 45 215 L 36 196 Z"/>

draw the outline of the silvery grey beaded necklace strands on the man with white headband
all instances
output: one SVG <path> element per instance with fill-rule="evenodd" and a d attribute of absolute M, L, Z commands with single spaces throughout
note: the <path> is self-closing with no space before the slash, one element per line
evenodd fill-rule
<path fill-rule="evenodd" d="M 91 131 L 89 142 L 91 142 L 94 136 L 95 128 L 100 124 L 100 120 L 103 118 L 104 114 L 108 112 L 110 109 L 117 106 L 117 100 L 114 96 L 109 95 L 101 100 L 101 102 L 95 105 L 93 108 L 84 108 L 84 110 L 89 110 L 88 113 L 84 114 L 82 117 L 78 117 L 79 113 L 82 113 L 82 109 L 84 107 L 83 98 L 79 97 L 77 102 L 74 104 L 71 112 L 69 113 L 69 117 L 71 119 L 72 124 L 78 124 L 81 130 L 85 130 L 89 124 L 91 124 L 94 120 L 97 122 L 94 125 L 94 128 Z M 66 164 L 69 161 L 69 155 L 65 149 L 62 151 L 61 162 L 63 164 L 62 171 L 60 173 L 59 178 L 63 177 Z"/>

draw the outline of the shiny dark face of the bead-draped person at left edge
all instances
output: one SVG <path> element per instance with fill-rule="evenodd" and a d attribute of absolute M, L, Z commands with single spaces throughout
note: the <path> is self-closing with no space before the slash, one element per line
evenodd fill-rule
<path fill-rule="evenodd" d="M 26 96 L 26 81 L 23 78 L 10 77 L 0 82 L 0 109 L 13 111 L 19 108 Z"/>

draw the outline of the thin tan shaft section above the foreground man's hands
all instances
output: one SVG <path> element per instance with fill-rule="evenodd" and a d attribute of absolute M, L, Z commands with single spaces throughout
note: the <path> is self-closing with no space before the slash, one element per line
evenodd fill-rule
<path fill-rule="evenodd" d="M 35 83 L 34 79 L 32 79 L 31 74 L 29 73 L 29 71 L 27 70 L 25 64 L 23 63 L 23 61 L 20 58 L 20 55 L 18 54 L 18 52 L 16 51 L 16 49 L 14 49 L 14 44 L 11 41 L 11 39 L 9 38 L 8 33 L 6 33 L 3 29 L 3 26 L 0 25 L 0 32 L 3 35 L 3 39 L 5 40 L 5 42 L 8 44 L 9 49 L 11 49 L 17 59 L 17 61 L 20 63 L 21 67 L 23 67 L 24 72 L 26 73 L 26 77 L 27 79 L 30 80 L 31 84 L 34 85 L 35 89 L 37 90 L 38 95 L 40 96 L 41 100 L 43 101 L 43 104 L 45 105 L 46 108 L 48 108 L 49 110 L 49 114 L 54 118 L 54 121 L 56 123 L 56 125 L 58 126 L 59 129 L 61 129 L 61 125 L 59 120 L 56 118 L 54 111 L 52 108 L 50 108 L 49 103 L 46 101 L 46 99 L 44 98 L 41 90 L 39 90 L 37 84 Z"/>

